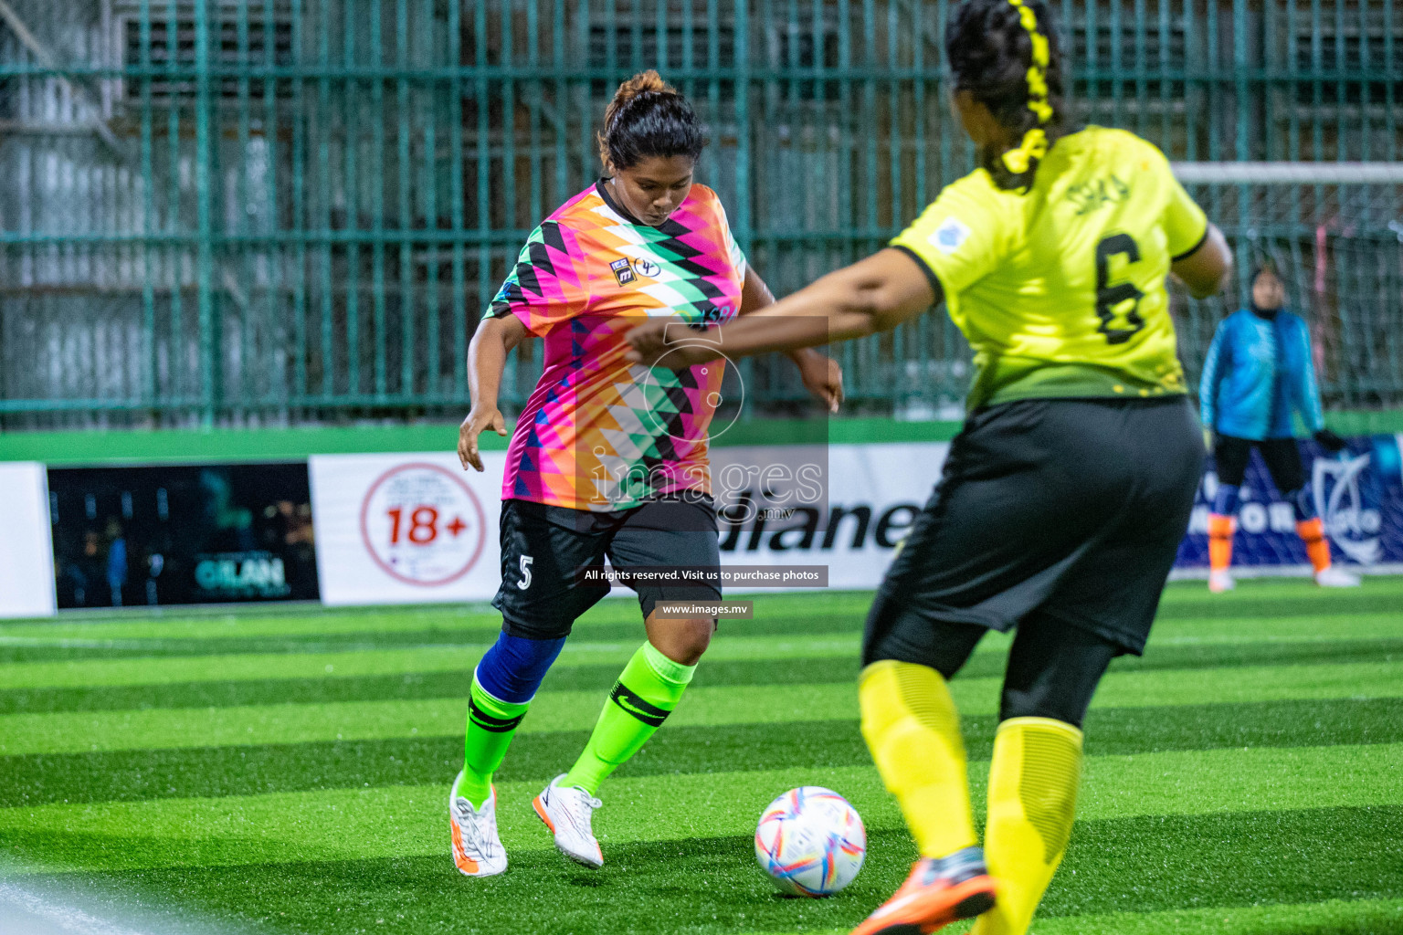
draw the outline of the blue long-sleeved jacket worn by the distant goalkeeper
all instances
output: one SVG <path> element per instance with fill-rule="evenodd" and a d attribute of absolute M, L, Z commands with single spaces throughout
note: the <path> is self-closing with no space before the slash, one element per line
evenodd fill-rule
<path fill-rule="evenodd" d="M 1310 362 L 1310 331 L 1285 310 L 1263 318 L 1240 308 L 1223 318 L 1198 385 L 1204 425 L 1239 439 L 1287 439 L 1291 411 L 1310 432 L 1324 428 Z"/>

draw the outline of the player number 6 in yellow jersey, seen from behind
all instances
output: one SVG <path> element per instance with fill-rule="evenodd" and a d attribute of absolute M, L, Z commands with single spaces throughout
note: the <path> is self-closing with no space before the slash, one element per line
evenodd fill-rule
<path fill-rule="evenodd" d="M 969 416 L 892 561 L 863 641 L 863 735 L 920 859 L 854 935 L 1021 935 L 1068 838 L 1082 719 L 1145 646 L 1204 446 L 1166 276 L 1230 265 L 1164 156 L 1068 126 L 1063 62 L 1033 0 L 967 0 L 946 31 L 953 111 L 979 168 L 891 247 L 709 334 L 630 334 L 669 366 L 860 338 L 944 301 L 975 349 Z M 669 336 L 675 338 L 669 343 Z M 947 680 L 989 629 L 1016 636 L 979 847 Z"/>

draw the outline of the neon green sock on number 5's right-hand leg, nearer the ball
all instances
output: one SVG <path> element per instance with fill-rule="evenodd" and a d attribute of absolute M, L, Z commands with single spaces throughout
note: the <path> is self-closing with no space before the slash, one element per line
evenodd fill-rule
<path fill-rule="evenodd" d="M 672 662 L 654 649 L 652 643 L 644 643 L 624 666 L 599 714 L 595 732 L 589 735 L 585 751 L 560 785 L 584 786 L 589 795 L 598 792 L 605 777 L 638 753 L 678 707 L 696 669 Z"/>

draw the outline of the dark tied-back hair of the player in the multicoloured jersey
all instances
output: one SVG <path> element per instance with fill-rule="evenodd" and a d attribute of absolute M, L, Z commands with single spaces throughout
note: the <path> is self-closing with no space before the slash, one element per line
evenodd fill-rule
<path fill-rule="evenodd" d="M 607 171 L 633 168 L 650 156 L 696 158 L 704 146 L 696 111 L 651 69 L 620 84 L 605 108 L 599 160 Z"/>

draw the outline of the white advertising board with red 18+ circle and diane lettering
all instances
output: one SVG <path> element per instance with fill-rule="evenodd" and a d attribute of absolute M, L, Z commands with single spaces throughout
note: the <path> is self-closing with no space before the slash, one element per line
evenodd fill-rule
<path fill-rule="evenodd" d="M 822 509 L 765 500 L 721 534 L 724 565 L 826 565 L 829 587 L 875 587 L 940 477 L 948 444 L 838 444 L 818 458 Z M 777 461 L 774 449 L 713 451 L 713 477 Z M 791 456 L 786 456 L 793 463 Z M 497 523 L 505 453 L 464 472 L 452 453 L 310 458 L 317 569 L 327 604 L 490 600 L 499 582 Z M 826 460 L 826 464 L 822 461 Z M 760 484 L 751 489 L 759 498 Z M 730 485 L 735 503 L 745 484 Z M 779 512 L 776 513 L 776 507 Z M 627 593 L 626 589 L 616 589 Z"/>

